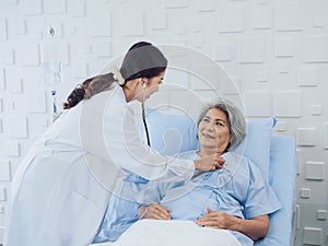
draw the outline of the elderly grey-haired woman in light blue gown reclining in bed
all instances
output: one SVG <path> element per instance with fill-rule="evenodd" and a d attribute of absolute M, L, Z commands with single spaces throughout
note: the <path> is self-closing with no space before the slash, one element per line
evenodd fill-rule
<path fill-rule="evenodd" d="M 219 152 L 225 166 L 196 172 L 191 181 L 153 183 L 127 176 L 117 187 L 95 242 L 115 241 L 140 219 L 191 220 L 204 227 L 229 230 L 243 246 L 266 236 L 268 214 L 280 209 L 260 171 L 233 152 L 246 136 L 242 112 L 230 102 L 208 106 L 198 120 L 199 150 L 179 155 L 200 159 Z"/>

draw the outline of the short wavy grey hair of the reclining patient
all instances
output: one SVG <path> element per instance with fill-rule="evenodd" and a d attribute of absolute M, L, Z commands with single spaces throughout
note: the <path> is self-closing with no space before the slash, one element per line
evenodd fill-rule
<path fill-rule="evenodd" d="M 231 143 L 229 150 L 236 148 L 246 137 L 246 120 L 242 110 L 232 102 L 226 99 L 216 99 L 213 103 L 208 104 L 198 118 L 197 126 L 199 126 L 202 118 L 208 110 L 216 108 L 226 114 L 229 129 L 231 133 Z"/>

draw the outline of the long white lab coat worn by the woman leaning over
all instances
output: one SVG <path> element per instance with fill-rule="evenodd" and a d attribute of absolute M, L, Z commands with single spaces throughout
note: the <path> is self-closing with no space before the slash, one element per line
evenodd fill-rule
<path fill-rule="evenodd" d="M 67 110 L 34 144 L 13 183 L 4 246 L 86 246 L 121 168 L 186 179 L 192 161 L 162 156 L 139 138 L 121 87 Z"/>

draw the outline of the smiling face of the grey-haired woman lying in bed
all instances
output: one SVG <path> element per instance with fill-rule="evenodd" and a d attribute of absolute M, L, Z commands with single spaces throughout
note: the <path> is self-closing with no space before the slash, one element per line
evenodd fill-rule
<path fill-rule="evenodd" d="M 198 126 L 198 139 L 202 149 L 223 153 L 231 140 L 225 113 L 218 108 L 209 109 Z"/>

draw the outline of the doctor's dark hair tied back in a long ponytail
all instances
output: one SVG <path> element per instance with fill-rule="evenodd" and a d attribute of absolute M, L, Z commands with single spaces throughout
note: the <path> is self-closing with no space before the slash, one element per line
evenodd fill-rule
<path fill-rule="evenodd" d="M 167 67 L 167 59 L 162 51 L 148 42 L 139 42 L 130 47 L 126 54 L 120 73 L 125 82 L 120 86 L 138 78 L 151 79 L 160 75 Z M 69 109 L 79 104 L 82 99 L 87 99 L 95 94 L 108 91 L 114 82 L 118 82 L 112 72 L 92 77 L 79 84 L 63 103 L 63 109 Z"/>

